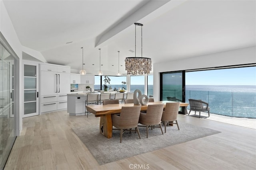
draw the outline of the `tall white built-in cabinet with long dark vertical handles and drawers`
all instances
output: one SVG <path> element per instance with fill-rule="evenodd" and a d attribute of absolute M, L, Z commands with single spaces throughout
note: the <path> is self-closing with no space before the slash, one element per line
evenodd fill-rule
<path fill-rule="evenodd" d="M 40 64 L 40 113 L 67 108 L 70 67 Z"/>

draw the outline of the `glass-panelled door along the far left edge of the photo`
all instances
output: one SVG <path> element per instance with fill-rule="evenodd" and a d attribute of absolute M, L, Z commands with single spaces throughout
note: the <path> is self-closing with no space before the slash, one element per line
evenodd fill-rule
<path fill-rule="evenodd" d="M 12 82 L 16 72 L 16 59 L 1 44 L 0 38 L 0 169 L 10 154 L 16 133 L 16 115 L 14 114 L 14 96 L 16 85 Z"/>

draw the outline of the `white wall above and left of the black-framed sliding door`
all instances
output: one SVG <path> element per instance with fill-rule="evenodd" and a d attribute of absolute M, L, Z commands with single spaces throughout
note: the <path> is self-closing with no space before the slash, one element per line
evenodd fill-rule
<path fill-rule="evenodd" d="M 154 64 L 154 98 L 160 100 L 160 72 L 251 63 L 256 63 L 256 46 Z"/>

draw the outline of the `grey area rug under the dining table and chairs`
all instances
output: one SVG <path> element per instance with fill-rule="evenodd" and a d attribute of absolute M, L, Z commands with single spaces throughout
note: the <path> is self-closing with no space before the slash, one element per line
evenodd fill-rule
<path fill-rule="evenodd" d="M 122 143 L 120 143 L 119 130 L 113 130 L 110 139 L 100 134 L 99 125 L 76 127 L 72 130 L 90 150 L 99 165 L 220 133 L 184 122 L 178 123 L 180 130 L 176 125 L 167 126 L 164 135 L 160 128 L 153 130 L 150 128 L 148 138 L 146 138 L 146 127 L 139 127 L 141 139 L 137 133 L 126 131 L 123 134 Z M 164 131 L 164 126 L 162 128 Z"/>

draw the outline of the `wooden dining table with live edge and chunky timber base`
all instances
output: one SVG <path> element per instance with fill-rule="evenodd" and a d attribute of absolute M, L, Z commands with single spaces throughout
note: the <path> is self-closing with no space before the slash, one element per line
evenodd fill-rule
<path fill-rule="evenodd" d="M 171 103 L 172 101 L 148 102 L 148 105 Z M 142 105 L 140 111 L 146 111 L 148 105 Z M 90 105 L 86 106 L 87 111 L 93 113 L 95 117 L 100 117 L 100 133 L 107 138 L 112 138 L 112 114 L 120 113 L 122 106 L 134 106 L 133 103 L 128 104 L 107 104 L 107 105 Z M 188 103 L 180 102 L 180 106 L 184 107 L 187 114 Z"/>

